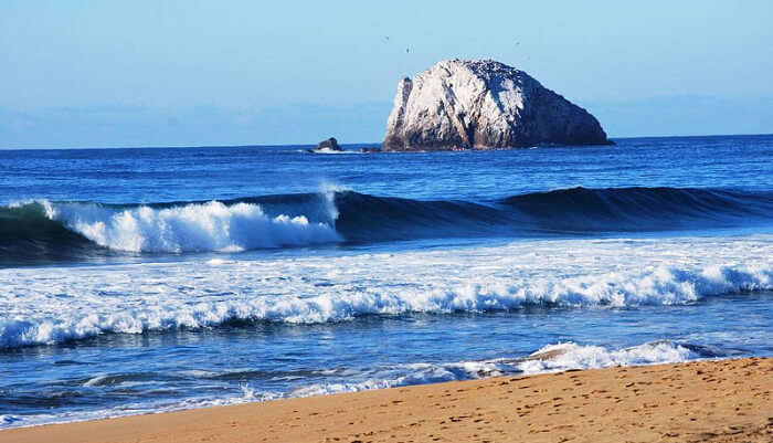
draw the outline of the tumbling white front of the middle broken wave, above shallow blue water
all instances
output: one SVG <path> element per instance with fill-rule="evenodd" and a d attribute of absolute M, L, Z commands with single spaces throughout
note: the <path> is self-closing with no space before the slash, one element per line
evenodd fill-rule
<path fill-rule="evenodd" d="M 251 275 L 244 267 L 227 268 L 225 274 L 240 287 L 263 278 L 264 291 L 272 289 L 263 273 Z M 155 275 L 155 274 L 153 274 Z M 712 295 L 773 291 L 773 267 L 708 266 L 703 270 L 658 267 L 640 273 L 611 272 L 604 275 L 563 276 L 554 279 L 508 277 L 488 284 L 425 284 L 413 288 L 354 288 L 315 286 L 314 295 L 304 295 L 304 286 L 283 277 L 288 293 L 245 294 L 223 296 L 207 288 L 207 297 L 194 297 L 190 272 L 180 275 L 165 272 L 166 287 L 153 286 L 147 296 L 138 295 L 142 287 L 75 287 L 77 300 L 65 300 L 55 289 L 29 294 L 29 306 L 17 306 L 0 319 L 0 349 L 32 345 L 55 345 L 104 334 L 145 334 L 231 327 L 255 323 L 320 324 L 345 321 L 363 316 L 403 314 L 487 313 L 525 307 L 636 307 L 686 305 Z M 241 275 L 241 276 L 237 276 Z M 86 275 L 73 278 L 85 279 Z M 117 276 L 117 278 L 125 278 Z M 240 279 L 242 278 L 242 279 Z M 152 279 L 152 278 L 150 278 Z M 301 278 L 307 279 L 307 278 Z M 486 278 L 489 279 L 489 278 Z M 358 286 L 362 282 L 358 278 Z M 74 282 L 67 282 L 67 285 Z M 34 283 L 20 283 L 34 286 Z M 221 283 L 222 284 L 222 283 Z M 229 283 L 230 284 L 230 283 Z M 11 291 L 15 291 L 11 288 Z M 28 289 L 29 291 L 29 289 Z M 33 291 L 34 287 L 33 287 Z M 123 295 L 131 294 L 131 297 Z M 21 292 L 21 291 L 19 291 Z M 177 293 L 176 293 L 177 292 Z M 300 292 L 300 294 L 298 294 Z M 163 294 L 159 297 L 158 294 Z M 72 306 L 74 305 L 74 306 Z M 53 309 L 41 312 L 41 308 Z M 38 314 L 30 313 L 38 310 Z"/>

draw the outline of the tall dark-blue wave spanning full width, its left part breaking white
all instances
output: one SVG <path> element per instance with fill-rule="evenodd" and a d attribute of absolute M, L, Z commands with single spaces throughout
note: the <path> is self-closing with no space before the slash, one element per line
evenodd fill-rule
<path fill-rule="evenodd" d="M 690 188 L 571 188 L 477 202 L 342 190 L 125 205 L 40 200 L 0 208 L 0 265 L 120 253 L 714 229 L 772 220 L 773 193 Z"/>

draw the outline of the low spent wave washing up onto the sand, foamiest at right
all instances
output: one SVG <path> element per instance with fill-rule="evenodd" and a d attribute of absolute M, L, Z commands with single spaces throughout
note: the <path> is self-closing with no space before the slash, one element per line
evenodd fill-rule
<path fill-rule="evenodd" d="M 729 355 L 708 350 L 702 346 L 687 342 L 659 340 L 626 348 L 580 345 L 576 342 L 559 342 L 519 358 L 498 358 L 491 360 L 470 360 L 454 362 L 411 362 L 371 368 L 349 368 L 346 373 L 309 373 L 297 377 L 295 386 L 286 390 L 255 389 L 252 381 L 261 384 L 261 379 L 283 377 L 282 372 L 244 375 L 242 372 L 189 373 L 191 378 L 210 380 L 219 379 L 230 382 L 242 381 L 237 387 L 222 386 L 218 397 L 198 395 L 176 400 L 155 400 L 124 404 L 95 411 L 67 411 L 31 415 L 0 414 L 0 430 L 9 428 L 31 426 L 51 423 L 64 423 L 85 420 L 97 420 L 134 415 L 140 413 L 170 412 L 197 408 L 241 404 L 277 399 L 303 398 L 336 394 L 342 392 L 359 392 L 373 389 L 398 388 L 405 386 L 437 383 L 445 381 L 475 380 L 499 376 L 537 375 L 564 370 L 600 369 L 617 366 L 646 366 L 680 363 L 707 358 L 727 358 Z M 192 371 L 189 371 L 192 372 Z M 319 371 L 326 372 L 326 371 Z M 126 373 L 117 376 L 98 375 L 83 383 L 84 388 L 102 386 L 120 386 L 135 379 L 159 377 L 152 372 Z M 161 377 L 169 377 L 168 373 Z M 313 379 L 327 381 L 309 383 Z M 189 383 L 190 381 L 187 380 Z M 71 388 L 77 389 L 77 388 Z M 77 393 L 77 391 L 73 391 Z M 44 402 L 46 399 L 41 398 Z"/>

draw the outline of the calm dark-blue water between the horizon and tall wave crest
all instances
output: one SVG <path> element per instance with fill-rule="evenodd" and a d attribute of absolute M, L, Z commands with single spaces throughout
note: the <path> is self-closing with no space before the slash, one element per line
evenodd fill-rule
<path fill-rule="evenodd" d="M 0 201 L 222 200 L 317 192 L 325 184 L 458 200 L 576 186 L 769 191 L 772 137 L 633 138 L 617 146 L 410 155 L 309 155 L 303 152 L 308 147 L 286 146 L 4 150 Z"/>

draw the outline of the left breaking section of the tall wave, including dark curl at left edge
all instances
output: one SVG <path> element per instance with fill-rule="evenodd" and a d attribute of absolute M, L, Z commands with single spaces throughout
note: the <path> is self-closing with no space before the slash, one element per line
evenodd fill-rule
<path fill-rule="evenodd" d="M 0 264 L 118 253 L 239 252 L 341 240 L 329 222 L 268 214 L 248 199 L 123 207 L 42 200 L 0 208 Z"/>

